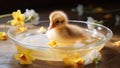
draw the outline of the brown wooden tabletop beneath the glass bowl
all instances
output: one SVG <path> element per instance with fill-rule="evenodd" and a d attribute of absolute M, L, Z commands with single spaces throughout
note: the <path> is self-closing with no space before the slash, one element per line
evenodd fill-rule
<path fill-rule="evenodd" d="M 48 19 L 48 15 L 49 15 L 48 11 L 40 12 L 39 14 L 41 15 L 42 20 Z M 73 14 L 72 16 L 69 15 L 69 17 L 71 19 L 76 19 L 74 18 L 75 15 L 76 14 Z M 9 18 L 0 19 L 1 22 L 0 24 L 5 23 L 6 19 Z M 0 28 L 0 30 L 2 29 Z M 115 29 L 112 30 L 114 30 L 113 38 L 109 42 L 107 42 L 105 47 L 101 50 L 102 59 L 99 62 L 99 64 L 98 65 L 89 64 L 84 66 L 84 68 L 120 68 L 120 47 L 113 46 L 113 42 L 120 40 L 120 34 L 118 30 L 116 31 Z M 39 65 L 34 65 L 34 64 L 20 65 L 14 59 L 13 57 L 14 53 L 16 53 L 16 49 L 12 41 L 10 41 L 9 39 L 6 41 L 0 41 L 0 68 L 41 68 L 39 67 Z"/>

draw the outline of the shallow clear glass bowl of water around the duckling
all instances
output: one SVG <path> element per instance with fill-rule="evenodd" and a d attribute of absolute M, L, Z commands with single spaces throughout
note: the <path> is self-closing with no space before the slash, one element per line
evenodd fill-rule
<path fill-rule="evenodd" d="M 23 33 L 16 33 L 16 28 L 11 28 L 8 30 L 8 37 L 15 43 L 16 46 L 21 46 L 25 49 L 29 49 L 32 52 L 32 56 L 38 60 L 43 68 L 61 68 L 64 67 L 63 59 L 66 55 L 75 56 L 76 53 L 83 57 L 87 55 L 91 50 L 100 51 L 105 43 L 111 39 L 112 31 L 100 24 L 90 23 L 86 21 L 69 20 L 71 24 L 78 25 L 84 29 L 84 31 L 92 38 L 98 38 L 92 44 L 81 45 L 77 44 L 74 47 L 50 47 L 48 46 L 49 40 L 46 34 L 39 34 L 37 30 L 41 26 L 47 29 L 49 21 L 41 21 L 39 25 L 27 24 L 29 29 Z"/>

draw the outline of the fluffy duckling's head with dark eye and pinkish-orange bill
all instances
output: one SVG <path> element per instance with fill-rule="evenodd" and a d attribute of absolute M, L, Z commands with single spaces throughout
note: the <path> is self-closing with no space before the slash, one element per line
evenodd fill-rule
<path fill-rule="evenodd" d="M 60 29 L 66 26 L 68 23 L 68 18 L 66 13 L 63 11 L 53 11 L 50 16 L 50 25 L 48 29 L 56 28 Z"/>

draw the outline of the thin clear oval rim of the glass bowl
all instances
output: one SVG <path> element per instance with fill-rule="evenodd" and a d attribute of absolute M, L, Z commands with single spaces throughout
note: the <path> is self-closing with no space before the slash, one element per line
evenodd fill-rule
<path fill-rule="evenodd" d="M 49 22 L 49 20 L 43 20 L 43 21 L 40 21 L 40 22 Z M 100 27 L 103 27 L 103 28 L 105 28 L 109 33 L 107 34 L 107 36 L 106 36 L 106 38 L 105 39 L 103 39 L 103 40 L 101 40 L 101 41 L 99 41 L 99 42 L 97 42 L 95 45 L 94 45 L 94 47 L 97 47 L 97 46 L 99 46 L 99 45 L 101 45 L 102 43 L 106 43 L 108 40 L 110 40 L 111 38 L 112 38 L 112 36 L 113 36 L 113 32 L 111 31 L 111 29 L 109 29 L 108 27 L 106 27 L 106 26 L 104 26 L 104 25 L 101 25 L 101 24 L 97 24 L 97 23 L 93 23 L 93 22 L 88 22 L 88 21 L 80 21 L 80 20 L 69 20 L 69 22 L 76 22 L 76 23 L 84 23 L 84 24 L 92 24 L 92 25 L 96 25 L 96 26 L 100 26 Z M 48 47 L 44 47 L 44 46 L 33 46 L 33 45 L 30 45 L 30 44 L 26 44 L 26 43 L 23 43 L 23 42 L 21 42 L 21 41 L 18 41 L 18 40 L 16 40 L 15 38 L 13 38 L 13 37 L 11 37 L 10 36 L 10 31 L 11 30 L 13 30 L 14 28 L 10 28 L 8 31 L 7 31 L 7 35 L 8 35 L 8 37 L 12 40 L 12 41 L 14 41 L 14 42 L 17 42 L 18 44 L 21 44 L 21 46 L 23 46 L 23 45 L 26 45 L 26 46 L 24 46 L 24 47 L 29 47 L 29 48 L 32 48 L 32 47 L 38 47 L 38 48 L 50 48 L 49 46 Z M 53 48 L 57 48 L 57 49 L 66 49 L 66 48 L 71 48 L 71 47 L 53 47 Z M 73 48 L 73 47 L 72 47 Z M 83 46 L 83 47 L 74 47 L 75 49 L 87 49 L 87 48 L 89 48 L 88 46 Z"/>

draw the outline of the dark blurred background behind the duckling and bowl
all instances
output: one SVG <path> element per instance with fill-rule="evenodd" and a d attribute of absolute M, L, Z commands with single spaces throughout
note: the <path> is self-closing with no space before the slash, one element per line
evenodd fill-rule
<path fill-rule="evenodd" d="M 77 12 L 72 12 L 78 4 L 82 4 L 85 8 L 103 8 L 104 11 L 119 11 L 107 13 L 84 13 L 78 16 Z M 48 15 L 53 10 L 64 10 L 67 12 L 70 19 L 86 20 L 88 16 L 96 20 L 103 20 L 104 25 L 112 29 L 120 29 L 120 25 L 115 26 L 115 16 L 120 16 L 120 2 L 118 0 L 0 0 L 0 15 L 12 13 L 20 9 L 25 12 L 25 9 L 34 9 L 41 16 L 41 20 L 48 19 Z M 86 10 L 88 11 L 88 10 Z M 92 10 L 90 10 L 92 11 Z M 105 15 L 111 15 L 109 18 L 104 18 Z M 116 29 L 113 29 L 116 28 Z M 120 30 L 118 30 L 120 32 Z"/>

